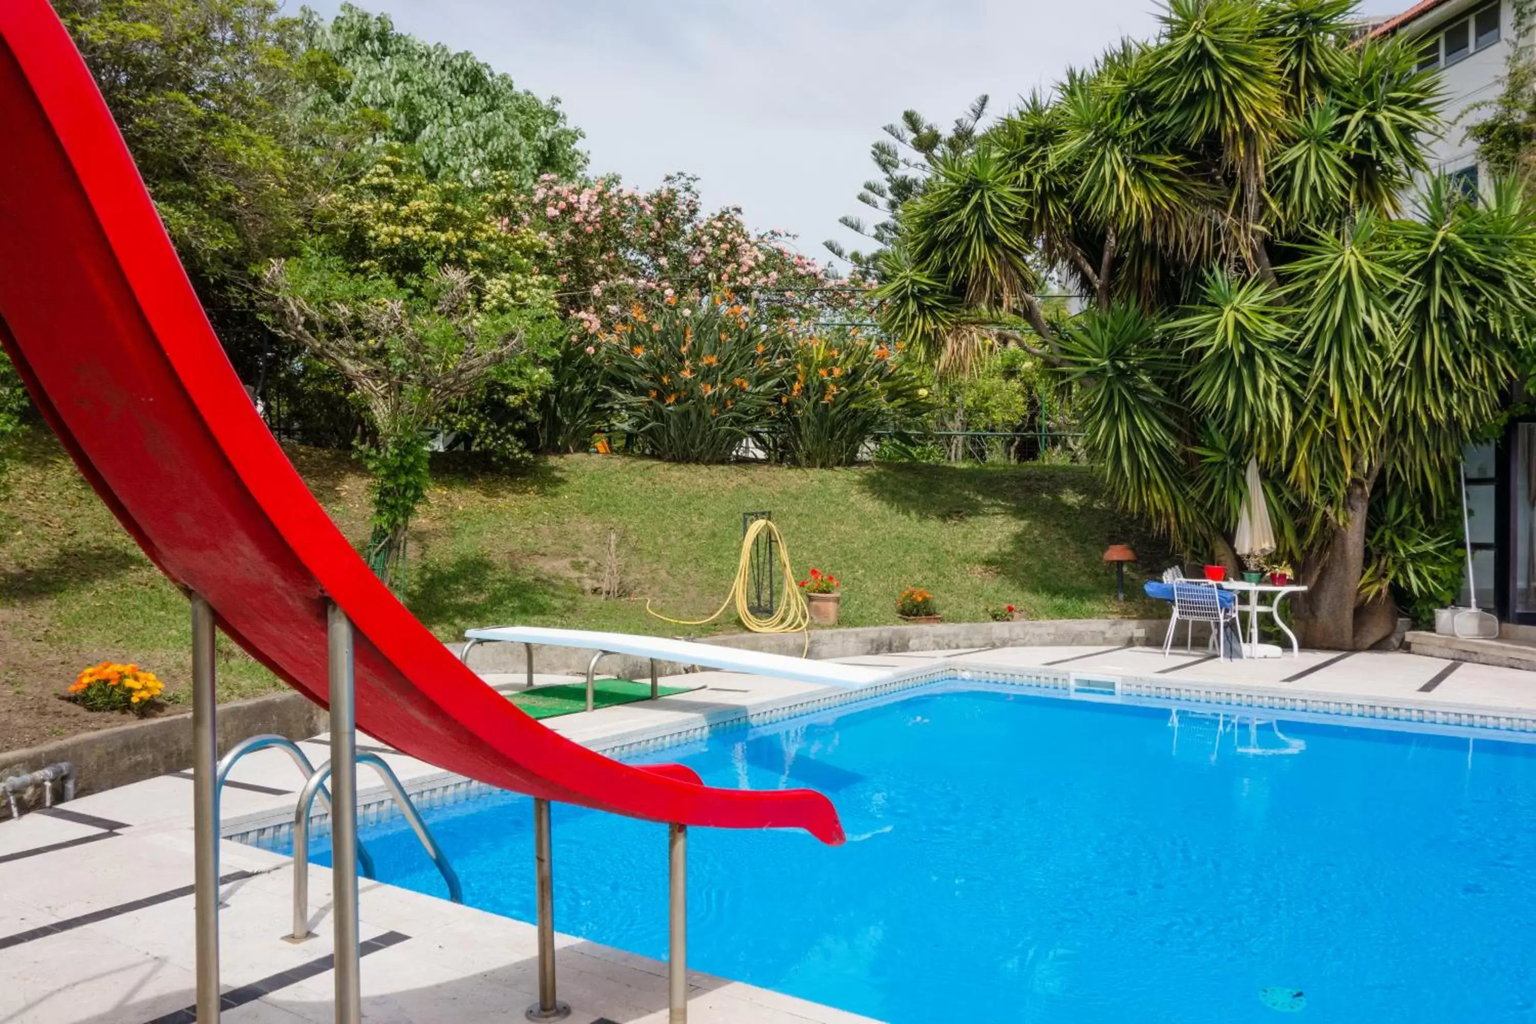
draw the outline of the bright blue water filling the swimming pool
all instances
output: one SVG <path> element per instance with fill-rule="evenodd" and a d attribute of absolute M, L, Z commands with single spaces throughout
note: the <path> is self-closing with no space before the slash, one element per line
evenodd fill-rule
<path fill-rule="evenodd" d="M 851 838 L 694 829 L 690 967 L 899 1024 L 1536 1019 L 1536 748 L 1232 725 L 943 683 L 650 755 Z M 528 800 L 429 821 L 533 920 Z M 444 894 L 402 823 L 364 838 Z M 665 826 L 556 806 L 554 883 L 562 932 L 665 958 Z"/>

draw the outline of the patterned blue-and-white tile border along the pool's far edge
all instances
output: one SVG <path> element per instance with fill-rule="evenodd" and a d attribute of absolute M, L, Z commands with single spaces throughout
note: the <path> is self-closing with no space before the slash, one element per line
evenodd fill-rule
<path fill-rule="evenodd" d="M 1114 694 L 1098 689 L 1077 692 L 1077 680 L 1092 680 L 1095 683 L 1112 683 Z M 1401 722 L 1425 726 L 1465 728 L 1493 732 L 1536 734 L 1536 715 L 1501 712 L 1491 708 L 1456 706 L 1435 702 L 1433 705 L 1415 705 L 1402 700 L 1375 700 L 1364 697 L 1339 697 L 1322 692 L 1287 692 L 1278 688 L 1240 688 L 1224 683 L 1174 682 L 1166 676 L 1126 676 L 1117 672 L 1069 671 L 1043 666 L 1018 665 L 985 665 L 975 662 L 957 663 L 942 660 L 934 665 L 914 668 L 888 682 L 857 689 L 826 688 L 809 694 L 785 697 L 760 706 L 728 708 L 708 712 L 702 722 L 679 726 L 647 726 L 627 729 L 610 737 L 598 738 L 588 746 L 607 757 L 636 757 L 650 751 L 697 743 L 713 735 L 773 725 L 785 718 L 793 718 L 819 711 L 829 711 L 845 705 L 863 703 L 915 689 L 942 680 L 982 682 L 1003 686 L 1015 686 L 1041 695 L 1066 697 L 1072 700 L 1092 700 L 1124 703 L 1152 702 L 1167 705 L 1201 705 L 1210 708 L 1253 708 L 1264 711 L 1287 711 L 1298 714 L 1318 714 L 1342 718 L 1361 718 L 1375 722 Z M 485 794 L 499 792 L 495 786 L 439 772 L 418 777 L 406 783 L 410 798 L 418 808 L 441 808 L 465 800 L 473 800 Z M 287 820 L 275 821 L 273 812 L 246 815 L 224 824 L 223 837 L 237 843 L 261 847 L 273 847 L 289 840 L 293 832 L 292 812 L 284 814 Z M 358 824 L 375 824 L 399 817 L 399 811 L 382 789 L 362 794 L 358 804 Z M 329 832 L 329 815 L 316 812 L 310 818 L 313 835 Z"/>

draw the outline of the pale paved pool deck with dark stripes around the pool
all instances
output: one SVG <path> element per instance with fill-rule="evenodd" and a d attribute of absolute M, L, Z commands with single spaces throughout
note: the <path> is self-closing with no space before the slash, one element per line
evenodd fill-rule
<path fill-rule="evenodd" d="M 998 648 L 845 659 L 914 679 L 962 674 L 1072 694 L 1106 685 L 1134 699 L 1213 706 L 1338 711 L 1410 722 L 1491 725 L 1536 738 L 1536 674 L 1398 652 L 1303 651 L 1299 657 L 1220 662 L 1201 651 L 1155 648 Z M 568 682 L 541 677 L 539 682 Z M 499 688 L 521 677 L 490 676 Z M 717 728 L 845 702 L 836 688 L 730 672 L 667 680 L 687 694 L 548 720 L 596 749 L 644 751 Z M 1094 692 L 1094 691 L 1084 691 Z M 359 735 L 378 748 L 429 806 L 482 791 Z M 306 742 L 316 763 L 326 737 Z M 359 772 L 364 820 L 381 791 Z M 223 834 L 246 838 L 287 827 L 301 778 L 281 751 L 246 757 L 223 794 Z M 657 844 L 665 829 L 656 827 Z M 559 872 L 559 863 L 554 870 Z M 227 840 L 220 870 L 224 1019 L 233 1024 L 332 1019 L 330 872 L 310 867 L 315 938 L 284 941 L 292 861 Z M 530 851 L 527 884 L 533 884 Z M 521 1021 L 535 1001 L 531 924 L 393 886 L 361 884 L 362 999 L 370 1021 Z M 556 921 L 556 926 L 559 921 Z M 660 1024 L 667 966 L 561 936 L 559 993 L 576 1024 Z M 696 1024 L 845 1024 L 865 1021 L 754 986 L 694 973 Z M 192 781 L 170 774 L 92 794 L 0 823 L 0 1022 L 181 1024 L 194 1018 Z"/>

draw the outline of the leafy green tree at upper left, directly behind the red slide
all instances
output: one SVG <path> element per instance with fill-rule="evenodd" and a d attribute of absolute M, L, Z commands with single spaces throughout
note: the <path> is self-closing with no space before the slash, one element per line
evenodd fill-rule
<path fill-rule="evenodd" d="M 55 0 L 237 370 L 260 376 L 250 267 L 292 250 L 310 161 L 296 21 L 272 0 Z"/>

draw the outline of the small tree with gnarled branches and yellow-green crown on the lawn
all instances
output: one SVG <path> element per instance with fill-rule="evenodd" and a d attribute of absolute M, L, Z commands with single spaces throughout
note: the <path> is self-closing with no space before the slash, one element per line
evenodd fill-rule
<path fill-rule="evenodd" d="M 390 150 L 327 197 L 303 255 L 272 261 L 263 278 L 272 329 L 339 373 L 367 413 L 369 562 L 393 586 L 425 496 L 429 428 L 496 384 L 554 312 L 535 266 L 541 243 L 496 213 L 495 195 L 432 181 Z"/>

